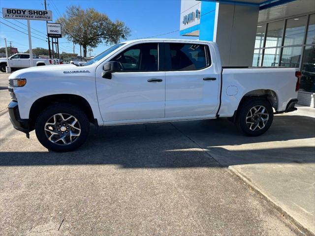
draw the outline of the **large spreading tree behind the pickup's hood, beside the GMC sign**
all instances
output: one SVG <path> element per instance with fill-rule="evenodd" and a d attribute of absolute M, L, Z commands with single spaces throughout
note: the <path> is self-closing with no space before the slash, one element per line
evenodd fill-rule
<path fill-rule="evenodd" d="M 83 47 L 84 57 L 88 46 L 95 48 L 102 42 L 115 44 L 130 36 L 130 29 L 124 22 L 113 22 L 94 8 L 84 10 L 80 6 L 68 6 L 66 13 L 56 22 L 62 25 L 62 33 L 69 41 Z"/>

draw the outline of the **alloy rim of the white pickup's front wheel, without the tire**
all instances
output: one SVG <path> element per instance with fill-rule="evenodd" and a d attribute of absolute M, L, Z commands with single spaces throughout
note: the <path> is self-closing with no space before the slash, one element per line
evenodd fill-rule
<path fill-rule="evenodd" d="M 45 123 L 48 140 L 57 145 L 69 145 L 75 142 L 81 133 L 77 118 L 66 113 L 55 114 Z"/>

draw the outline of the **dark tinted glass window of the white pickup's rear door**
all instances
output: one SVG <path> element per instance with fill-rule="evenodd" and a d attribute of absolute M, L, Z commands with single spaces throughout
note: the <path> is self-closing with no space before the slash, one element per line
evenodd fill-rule
<path fill-rule="evenodd" d="M 165 50 L 166 70 L 198 70 L 211 64 L 203 44 L 167 43 Z"/>

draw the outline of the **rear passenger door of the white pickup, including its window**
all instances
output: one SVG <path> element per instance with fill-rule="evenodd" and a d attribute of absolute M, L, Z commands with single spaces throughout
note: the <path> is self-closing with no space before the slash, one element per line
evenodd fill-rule
<path fill-rule="evenodd" d="M 215 115 L 219 71 L 202 43 L 165 41 L 165 118 Z"/>

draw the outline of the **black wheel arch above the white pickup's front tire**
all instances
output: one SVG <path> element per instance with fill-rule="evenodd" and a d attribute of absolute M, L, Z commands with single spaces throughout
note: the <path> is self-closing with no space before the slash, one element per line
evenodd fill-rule
<path fill-rule="evenodd" d="M 87 115 L 89 121 L 95 124 L 95 118 L 93 114 L 93 110 L 89 104 L 89 102 L 82 96 L 75 94 L 53 94 L 47 95 L 41 98 L 38 98 L 30 109 L 29 114 L 29 125 L 30 130 L 33 130 L 35 127 L 35 122 L 38 115 L 48 106 L 52 104 L 56 104 L 59 102 L 69 103 L 78 108 L 82 109 L 82 111 Z"/>

